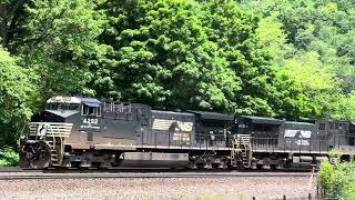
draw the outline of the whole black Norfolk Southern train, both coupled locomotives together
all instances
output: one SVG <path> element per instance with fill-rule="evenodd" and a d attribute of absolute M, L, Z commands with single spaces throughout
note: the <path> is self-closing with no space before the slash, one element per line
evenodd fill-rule
<path fill-rule="evenodd" d="M 349 121 L 294 122 L 57 96 L 20 139 L 21 168 L 281 169 L 355 152 Z"/>

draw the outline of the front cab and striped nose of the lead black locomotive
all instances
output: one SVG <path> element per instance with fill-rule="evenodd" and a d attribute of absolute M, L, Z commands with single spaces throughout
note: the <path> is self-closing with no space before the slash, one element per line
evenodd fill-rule
<path fill-rule="evenodd" d="M 20 140 L 20 167 L 44 169 L 60 166 L 73 130 L 100 130 L 100 116 L 101 102 L 97 99 L 50 98 L 45 110 L 31 118 L 29 131 Z"/>

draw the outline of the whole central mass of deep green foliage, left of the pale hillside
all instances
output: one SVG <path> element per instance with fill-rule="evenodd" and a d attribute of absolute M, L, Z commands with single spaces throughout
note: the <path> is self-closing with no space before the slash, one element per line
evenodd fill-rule
<path fill-rule="evenodd" d="M 276 114 L 277 83 L 256 34 L 258 18 L 234 1 L 106 1 L 102 8 L 109 26 L 100 38 L 110 50 L 93 81 L 99 96 Z"/>

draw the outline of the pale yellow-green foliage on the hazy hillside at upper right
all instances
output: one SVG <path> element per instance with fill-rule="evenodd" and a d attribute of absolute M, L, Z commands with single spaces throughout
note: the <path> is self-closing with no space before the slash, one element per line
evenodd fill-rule
<path fill-rule="evenodd" d="M 268 46 L 273 63 L 295 84 L 286 90 L 301 94 L 283 110 L 296 119 L 352 119 L 354 90 L 354 3 L 345 1 L 244 1 L 262 16 L 258 37 Z M 274 32 L 274 33 L 271 33 Z M 344 43 L 345 41 L 345 43 Z M 346 50 L 345 50 L 346 49 Z M 351 110 L 351 111 L 348 111 Z"/>

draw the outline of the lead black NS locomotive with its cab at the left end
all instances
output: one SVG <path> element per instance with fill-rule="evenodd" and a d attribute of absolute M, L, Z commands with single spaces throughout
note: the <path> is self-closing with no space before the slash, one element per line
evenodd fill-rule
<path fill-rule="evenodd" d="M 227 168 L 233 117 L 53 97 L 21 140 L 20 166 Z"/>

